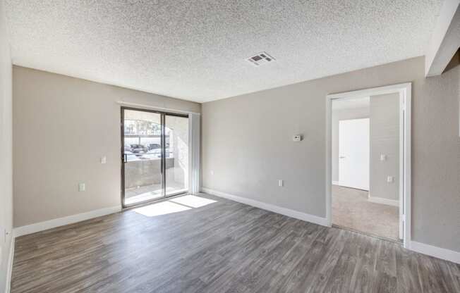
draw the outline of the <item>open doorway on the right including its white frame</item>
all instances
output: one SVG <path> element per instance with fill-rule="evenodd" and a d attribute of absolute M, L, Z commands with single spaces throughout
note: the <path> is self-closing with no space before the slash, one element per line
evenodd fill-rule
<path fill-rule="evenodd" d="M 346 106 L 353 101 L 361 108 Z M 393 106 L 388 106 L 390 101 Z M 346 106 L 346 117 L 334 116 L 336 103 Z M 366 104 L 368 108 L 363 111 Z M 369 104 L 374 106 L 369 108 Z M 376 115 L 373 112 L 376 106 L 387 112 Z M 411 84 L 329 94 L 326 108 L 327 223 L 377 237 L 384 232 L 382 238 L 401 239 L 404 247 L 408 247 L 411 239 Z M 369 230 L 369 227 L 377 229 Z M 387 237 L 385 232 L 392 236 Z"/>

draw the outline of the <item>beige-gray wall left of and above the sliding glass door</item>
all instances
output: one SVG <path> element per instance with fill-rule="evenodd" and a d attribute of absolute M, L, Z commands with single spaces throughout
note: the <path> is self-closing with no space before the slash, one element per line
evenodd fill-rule
<path fill-rule="evenodd" d="M 200 104 L 13 66 L 14 226 L 120 205 L 120 105 Z M 99 157 L 107 156 L 100 164 Z M 78 192 L 78 182 L 86 191 Z"/>

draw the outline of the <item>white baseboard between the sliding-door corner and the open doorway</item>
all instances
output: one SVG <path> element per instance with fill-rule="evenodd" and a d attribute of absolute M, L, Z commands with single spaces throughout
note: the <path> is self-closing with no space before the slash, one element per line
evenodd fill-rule
<path fill-rule="evenodd" d="M 272 211 L 274 213 L 280 213 L 284 216 L 296 218 L 299 220 L 305 220 L 306 222 L 315 223 L 317 225 L 328 226 L 327 219 L 318 216 L 313 216 L 308 213 L 302 213 L 300 211 L 294 211 L 289 208 L 282 208 L 281 206 L 274 206 L 273 204 L 267 204 L 262 201 L 255 201 L 254 199 L 248 199 L 246 197 L 238 197 L 233 194 L 227 194 L 225 192 L 218 192 L 206 187 L 201 187 L 201 191 L 207 194 L 212 194 L 217 197 L 223 197 L 224 199 L 230 199 L 231 201 L 238 201 L 241 204 L 247 204 L 248 206 L 255 206 L 256 208 L 262 208 L 262 210 Z"/>

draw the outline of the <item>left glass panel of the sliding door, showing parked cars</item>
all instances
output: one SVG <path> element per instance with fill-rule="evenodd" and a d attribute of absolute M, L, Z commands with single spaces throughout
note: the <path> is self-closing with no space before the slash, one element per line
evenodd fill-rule
<path fill-rule="evenodd" d="M 123 108 L 123 205 L 164 197 L 162 114 Z"/>

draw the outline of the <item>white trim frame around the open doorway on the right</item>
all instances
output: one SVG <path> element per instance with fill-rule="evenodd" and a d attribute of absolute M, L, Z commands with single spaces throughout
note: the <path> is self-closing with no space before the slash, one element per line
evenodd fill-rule
<path fill-rule="evenodd" d="M 403 246 L 411 245 L 411 82 L 326 96 L 326 220 L 332 226 L 332 101 L 379 94 L 399 94 L 399 231 Z M 401 229 L 402 228 L 402 229 Z M 400 232 L 401 235 L 401 232 Z"/>

